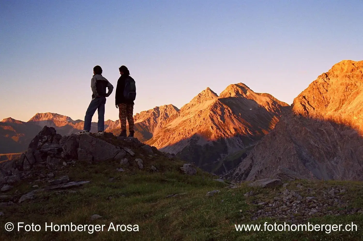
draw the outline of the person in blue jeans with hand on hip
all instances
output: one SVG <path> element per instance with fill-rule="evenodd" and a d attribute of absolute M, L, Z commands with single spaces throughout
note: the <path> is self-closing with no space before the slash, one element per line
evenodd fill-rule
<path fill-rule="evenodd" d="M 106 88 L 108 92 L 106 93 Z M 102 76 L 102 68 L 97 65 L 93 68 L 93 77 L 91 78 L 92 100 L 87 108 L 85 123 L 81 134 L 90 134 L 93 114 L 98 110 L 97 135 L 103 135 L 105 130 L 105 104 L 106 97 L 109 97 L 113 90 L 113 85 Z"/>

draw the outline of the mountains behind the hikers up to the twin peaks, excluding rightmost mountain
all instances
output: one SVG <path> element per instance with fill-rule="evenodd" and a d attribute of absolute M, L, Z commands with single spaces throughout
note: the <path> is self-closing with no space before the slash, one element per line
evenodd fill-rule
<path fill-rule="evenodd" d="M 220 174 L 235 167 L 241 156 L 248 154 L 256 141 L 274 128 L 286 107 L 289 105 L 272 95 L 255 93 L 243 83 L 229 85 L 220 95 L 208 87 L 180 110 L 163 105 L 137 113 L 135 137 Z M 2 133 L 1 152 L 24 151 L 29 139 L 43 126 L 70 135 L 82 130 L 83 123 L 54 113 L 37 113 L 28 122 L 4 119 L 3 129 L 11 128 L 12 132 Z M 28 134 L 25 130 L 33 132 Z M 97 123 L 92 123 L 91 132 L 95 131 Z M 105 131 L 118 135 L 120 121 L 106 120 Z M 15 139 L 17 135 L 23 139 Z"/>

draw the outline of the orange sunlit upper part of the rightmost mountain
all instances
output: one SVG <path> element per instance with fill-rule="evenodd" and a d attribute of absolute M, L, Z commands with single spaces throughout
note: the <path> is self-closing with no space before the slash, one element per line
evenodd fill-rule
<path fill-rule="evenodd" d="M 293 111 L 363 133 L 363 61 L 343 60 L 294 99 Z"/>

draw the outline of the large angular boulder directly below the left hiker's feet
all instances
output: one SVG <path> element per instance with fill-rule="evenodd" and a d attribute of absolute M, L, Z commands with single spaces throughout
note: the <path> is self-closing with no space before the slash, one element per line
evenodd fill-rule
<path fill-rule="evenodd" d="M 93 161 L 95 162 L 112 160 L 120 151 L 113 144 L 94 138 L 90 135 L 81 135 L 81 138 L 79 139 L 79 149 L 82 150 L 82 155 L 87 155 L 88 159 L 88 155 L 91 155 L 93 157 Z M 78 155 L 80 154 L 79 149 Z M 79 158 L 80 157 L 78 156 L 78 159 Z M 84 156 L 81 157 L 81 159 L 84 158 Z"/>

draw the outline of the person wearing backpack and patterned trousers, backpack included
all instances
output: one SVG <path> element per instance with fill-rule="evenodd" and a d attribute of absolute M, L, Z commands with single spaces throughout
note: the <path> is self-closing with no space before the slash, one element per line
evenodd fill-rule
<path fill-rule="evenodd" d="M 136 98 L 135 80 L 131 78 L 130 72 L 125 65 L 119 68 L 120 78 L 117 81 L 115 105 L 119 110 L 121 122 L 121 133 L 119 136 L 126 137 L 126 119 L 129 122 L 129 137 L 134 137 L 134 100 Z"/>

